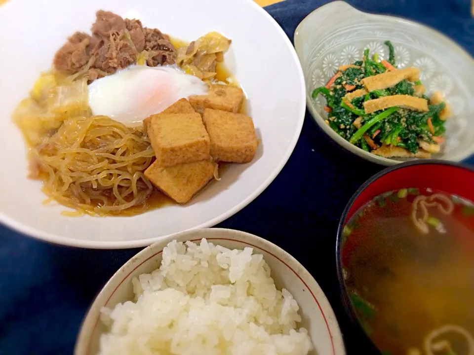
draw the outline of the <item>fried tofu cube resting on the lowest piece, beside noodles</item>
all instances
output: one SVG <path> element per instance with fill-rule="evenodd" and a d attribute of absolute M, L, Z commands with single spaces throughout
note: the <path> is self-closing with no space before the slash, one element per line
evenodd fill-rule
<path fill-rule="evenodd" d="M 199 113 L 160 113 L 152 117 L 148 138 L 158 166 L 209 159 L 210 140 Z"/>

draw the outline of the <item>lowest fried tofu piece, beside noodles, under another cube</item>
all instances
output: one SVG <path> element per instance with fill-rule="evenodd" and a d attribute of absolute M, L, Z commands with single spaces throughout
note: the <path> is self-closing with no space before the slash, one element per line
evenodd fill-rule
<path fill-rule="evenodd" d="M 163 168 L 155 161 L 145 176 L 179 204 L 189 202 L 214 177 L 217 164 L 210 160 Z"/>

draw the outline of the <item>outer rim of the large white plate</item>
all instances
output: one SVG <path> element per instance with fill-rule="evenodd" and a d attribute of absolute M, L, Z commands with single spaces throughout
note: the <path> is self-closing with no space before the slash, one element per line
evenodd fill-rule
<path fill-rule="evenodd" d="M 281 37 L 281 40 L 283 43 L 286 44 L 286 48 L 289 50 L 289 53 L 295 63 L 296 70 L 297 70 L 297 80 L 299 81 L 299 86 L 301 89 L 301 97 L 297 98 L 300 103 L 299 103 L 299 110 L 297 114 L 295 114 L 295 117 L 297 118 L 298 122 L 295 127 L 295 131 L 293 133 L 293 137 L 291 141 L 288 144 L 287 150 L 284 152 L 282 155 L 282 158 L 280 162 L 273 168 L 271 171 L 271 174 L 268 175 L 268 177 L 258 186 L 253 193 L 249 194 L 247 197 L 245 197 L 240 203 L 235 205 L 234 207 L 230 208 L 227 211 L 224 211 L 224 213 L 216 213 L 214 218 L 209 219 L 201 224 L 195 225 L 191 228 L 185 229 L 178 231 L 176 233 L 172 233 L 169 235 L 163 235 L 163 236 L 158 236 L 158 237 L 153 237 L 153 238 L 148 238 L 148 239 L 137 239 L 137 240 L 124 240 L 124 241 L 100 241 L 100 240 L 80 240 L 80 239 L 72 239 L 68 236 L 60 235 L 60 234 L 54 234 L 50 232 L 44 232 L 41 230 L 38 230 L 36 228 L 30 227 L 27 224 L 23 224 L 21 222 L 18 222 L 16 219 L 13 219 L 9 216 L 7 216 L 5 213 L 0 212 L 0 223 L 3 223 L 5 226 L 8 228 L 23 234 L 28 237 L 32 237 L 34 239 L 42 240 L 48 243 L 53 243 L 57 245 L 63 245 L 63 246 L 68 246 L 68 247 L 78 247 L 78 248 L 86 248 L 86 249 L 128 249 L 128 248 L 143 248 L 150 246 L 151 244 L 154 244 L 160 240 L 163 240 L 169 236 L 173 236 L 185 231 L 190 231 L 190 230 L 196 230 L 196 229 L 201 229 L 201 228 L 208 228 L 212 227 L 222 221 L 224 221 L 227 218 L 232 217 L 235 215 L 237 212 L 241 211 L 243 208 L 245 208 L 248 204 L 250 204 L 253 200 L 255 200 L 258 196 L 262 194 L 263 191 L 267 189 L 267 187 L 275 180 L 275 178 L 278 176 L 278 174 L 281 172 L 281 170 L 284 168 L 286 163 L 288 162 L 288 159 L 290 158 L 291 154 L 293 153 L 296 143 L 299 140 L 299 137 L 301 135 L 301 131 L 303 129 L 303 124 L 305 120 L 305 114 L 306 114 L 306 87 L 305 87 L 305 78 L 304 78 L 304 73 L 303 73 L 303 68 L 301 67 L 301 62 L 299 61 L 298 55 L 296 53 L 296 50 L 291 43 L 290 38 L 285 34 L 283 29 L 278 25 L 276 20 L 260 5 L 258 5 L 255 1 L 253 0 L 239 0 L 241 2 L 244 2 L 248 4 L 248 6 L 253 7 L 253 11 L 260 13 L 262 16 L 264 16 L 268 21 L 269 25 L 273 25 L 273 28 L 275 29 L 276 33 L 279 34 Z M 7 1 L 6 5 L 12 1 Z M 6 9 L 7 7 L 1 6 L 2 12 L 6 15 Z M 251 98 L 250 98 L 251 99 Z M 159 213 L 159 208 L 155 210 L 151 210 L 145 213 L 150 214 L 150 218 L 153 218 L 153 213 Z M 59 216 L 58 216 L 59 217 Z M 114 216 L 105 216 L 105 218 L 113 218 Z M 104 218 L 104 217 L 94 217 L 94 218 Z M 126 217 L 126 218 L 133 218 L 133 216 Z"/>

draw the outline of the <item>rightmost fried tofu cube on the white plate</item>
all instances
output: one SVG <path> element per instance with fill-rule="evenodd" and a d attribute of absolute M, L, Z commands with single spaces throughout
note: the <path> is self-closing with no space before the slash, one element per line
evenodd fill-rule
<path fill-rule="evenodd" d="M 241 113 L 205 108 L 202 120 L 215 161 L 248 163 L 253 159 L 258 142 L 252 118 Z"/>

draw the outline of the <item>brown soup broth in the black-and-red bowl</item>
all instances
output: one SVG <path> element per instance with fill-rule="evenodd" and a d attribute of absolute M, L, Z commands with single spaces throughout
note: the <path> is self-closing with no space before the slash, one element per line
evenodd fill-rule
<path fill-rule="evenodd" d="M 430 208 L 446 233 L 430 226 L 423 234 L 410 219 L 414 197 L 399 198 L 396 191 L 379 196 L 345 229 L 346 287 L 358 319 L 384 354 L 419 349 L 425 355 L 424 338 L 446 324 L 474 335 L 474 210 L 459 199 L 448 216 Z M 468 354 L 458 334 L 443 338 L 456 354 Z"/>

